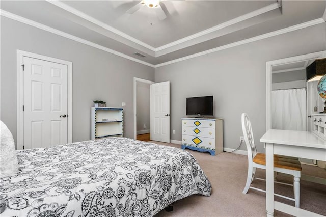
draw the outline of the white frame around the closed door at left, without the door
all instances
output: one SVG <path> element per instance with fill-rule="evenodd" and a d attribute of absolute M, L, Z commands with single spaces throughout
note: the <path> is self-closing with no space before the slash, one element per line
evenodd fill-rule
<path fill-rule="evenodd" d="M 72 143 L 72 62 L 60 60 L 57 58 L 47 57 L 43 55 L 39 55 L 37 53 L 32 53 L 24 50 L 18 50 L 17 49 L 17 150 L 20 150 L 23 148 L 23 70 L 22 70 L 22 64 L 23 64 L 23 58 L 29 57 L 39 60 L 44 60 L 48 62 L 54 62 L 59 63 L 63 65 L 67 65 L 67 106 L 68 106 L 68 114 L 69 118 L 67 120 L 68 124 L 68 143 Z"/>

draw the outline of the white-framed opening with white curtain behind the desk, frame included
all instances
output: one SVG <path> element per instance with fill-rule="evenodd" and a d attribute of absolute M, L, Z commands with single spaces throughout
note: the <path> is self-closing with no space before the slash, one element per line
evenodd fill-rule
<path fill-rule="evenodd" d="M 312 129 L 312 114 L 324 110 L 315 82 L 306 82 L 306 67 L 326 51 L 266 62 L 266 130 Z M 316 160 L 300 159 L 316 165 Z M 319 164 L 319 163 L 318 163 Z"/>

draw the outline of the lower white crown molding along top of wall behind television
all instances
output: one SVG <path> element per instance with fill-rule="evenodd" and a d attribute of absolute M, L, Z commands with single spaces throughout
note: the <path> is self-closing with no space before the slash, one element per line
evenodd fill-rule
<path fill-rule="evenodd" d="M 235 46 L 239 46 L 239 45 L 243 45 L 243 44 L 248 44 L 248 43 L 251 43 L 251 42 L 254 42 L 254 41 L 258 41 L 258 40 L 270 38 L 270 37 L 273 37 L 273 36 L 289 33 L 289 32 L 295 31 L 295 30 L 304 29 L 304 28 L 307 28 L 309 26 L 317 25 L 317 24 L 324 23 L 324 22 L 325 21 L 323 20 L 323 18 L 314 19 L 314 20 L 304 22 L 304 23 L 301 23 L 301 24 L 292 25 L 290 27 L 287 27 L 287 28 L 284 28 L 284 29 L 281 29 L 281 30 L 276 30 L 274 32 L 270 32 L 270 33 L 266 33 L 266 34 L 263 34 L 263 35 L 255 36 L 255 37 L 252 37 L 252 38 L 249 38 L 249 39 L 244 39 L 244 40 L 237 41 L 237 42 L 227 44 L 227 45 L 223 45 L 223 46 L 220 46 L 220 47 L 215 47 L 213 49 L 205 50 L 205 51 L 202 51 L 202 52 L 199 52 L 199 53 L 195 53 L 193 55 L 189 55 L 189 56 L 182 57 L 182 58 L 179 58 L 179 59 L 171 60 L 171 61 L 168 61 L 168 62 L 165 62 L 165 63 L 156 64 L 154 67 L 158 68 L 158 67 L 161 67 L 161 66 L 170 65 L 170 64 L 177 63 L 177 62 L 180 62 L 180 61 L 184 61 L 184 60 L 192 59 L 192 58 L 195 58 L 195 57 L 200 57 L 200 56 L 203 56 L 203 55 L 207 55 L 207 54 L 212 53 L 212 52 L 217 52 L 217 51 L 228 49 L 228 48 L 231 48 L 231 47 L 235 47 Z"/>

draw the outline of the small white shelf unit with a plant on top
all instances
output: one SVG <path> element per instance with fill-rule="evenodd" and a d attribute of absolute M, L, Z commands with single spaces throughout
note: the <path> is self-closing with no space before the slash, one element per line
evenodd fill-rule
<path fill-rule="evenodd" d="M 123 108 L 92 107 L 91 139 L 123 137 Z"/>

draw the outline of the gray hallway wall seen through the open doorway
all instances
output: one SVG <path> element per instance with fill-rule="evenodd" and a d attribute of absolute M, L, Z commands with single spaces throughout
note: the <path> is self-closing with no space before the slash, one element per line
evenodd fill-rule
<path fill-rule="evenodd" d="M 150 130 L 150 84 L 137 82 L 137 134 Z M 146 128 L 144 128 L 144 124 Z M 140 133 L 142 134 L 142 133 Z"/>

